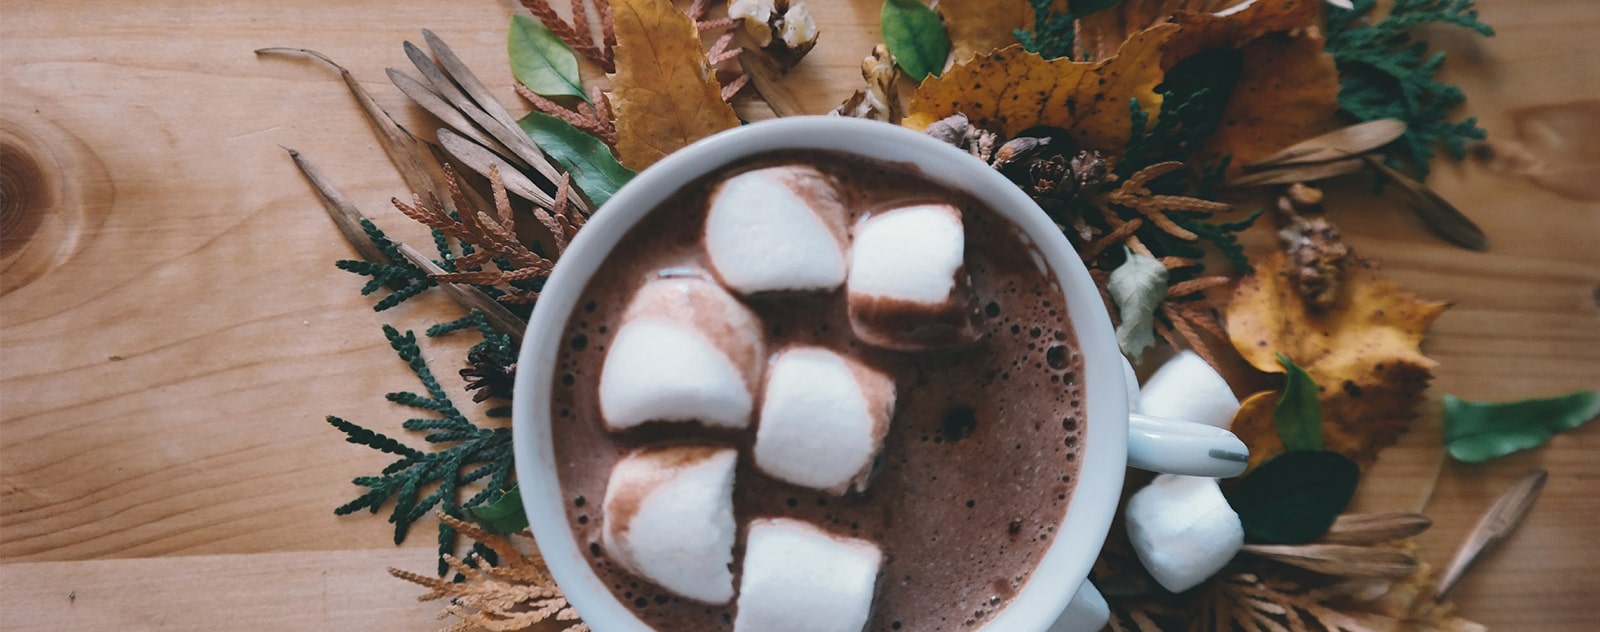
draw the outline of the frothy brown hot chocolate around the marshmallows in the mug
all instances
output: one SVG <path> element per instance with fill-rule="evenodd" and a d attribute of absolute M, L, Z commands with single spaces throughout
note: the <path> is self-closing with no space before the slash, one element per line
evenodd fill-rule
<path fill-rule="evenodd" d="M 869 344 L 853 330 L 842 286 L 739 298 L 760 323 L 768 357 L 786 349 L 830 350 L 858 374 L 893 382 L 893 419 L 870 477 L 864 485 L 850 478 L 842 494 L 757 467 L 758 419 L 750 427 L 610 427 L 602 413 L 602 370 L 630 299 L 662 275 L 714 278 L 704 232 L 714 189 L 774 165 L 811 165 L 832 181 L 845 226 L 923 203 L 960 211 L 960 282 L 976 307 L 973 334 L 963 336 L 976 342 L 936 350 Z M 869 630 L 960 630 L 987 622 L 1058 536 L 1083 445 L 1082 358 L 1058 282 L 1038 261 L 1018 229 L 979 200 L 901 166 L 840 154 L 768 155 L 678 190 L 622 238 L 584 288 L 557 360 L 550 400 L 557 475 L 573 534 L 587 547 L 595 573 L 658 630 L 733 629 L 736 598 L 706 605 L 642 579 L 632 557 L 608 550 L 602 512 L 613 469 L 629 454 L 686 443 L 731 446 L 738 450 L 733 586 L 739 586 L 749 525 L 787 518 L 882 550 Z M 760 411 L 755 392 L 754 402 L 741 405 Z"/>

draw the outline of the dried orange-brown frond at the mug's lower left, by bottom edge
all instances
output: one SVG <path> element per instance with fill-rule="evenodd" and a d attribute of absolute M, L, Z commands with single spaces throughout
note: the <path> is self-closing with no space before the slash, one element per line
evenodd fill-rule
<path fill-rule="evenodd" d="M 445 563 L 451 571 L 459 573 L 462 581 L 434 578 L 419 573 L 390 568 L 389 574 L 429 589 L 418 597 L 419 602 L 448 598 L 450 603 L 440 611 L 440 619 L 454 616 L 456 621 L 446 632 L 466 630 L 525 630 L 541 622 L 568 622 L 558 627 L 562 632 L 587 632 L 589 626 L 578 621 L 578 611 L 566 602 L 562 589 L 550 578 L 544 558 L 538 549 L 523 554 L 512 538 L 483 531 L 477 525 L 440 515 L 440 522 L 458 533 L 478 541 L 494 550 L 499 562 L 486 563 L 482 557 L 467 555 L 458 560 L 445 555 Z"/>

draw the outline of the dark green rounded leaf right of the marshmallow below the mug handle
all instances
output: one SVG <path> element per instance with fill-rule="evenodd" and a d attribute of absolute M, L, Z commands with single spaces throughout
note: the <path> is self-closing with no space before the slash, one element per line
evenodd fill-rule
<path fill-rule="evenodd" d="M 1304 544 L 1328 533 L 1360 480 L 1362 469 L 1344 454 L 1286 451 L 1245 475 L 1227 504 L 1238 512 L 1251 541 Z"/>

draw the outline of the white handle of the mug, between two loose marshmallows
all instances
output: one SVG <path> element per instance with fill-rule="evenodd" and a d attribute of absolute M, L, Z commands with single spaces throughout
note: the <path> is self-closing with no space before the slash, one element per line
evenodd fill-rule
<path fill-rule="evenodd" d="M 1128 467 L 1230 478 L 1243 474 L 1248 464 L 1250 448 L 1232 432 L 1192 421 L 1128 414 Z"/>

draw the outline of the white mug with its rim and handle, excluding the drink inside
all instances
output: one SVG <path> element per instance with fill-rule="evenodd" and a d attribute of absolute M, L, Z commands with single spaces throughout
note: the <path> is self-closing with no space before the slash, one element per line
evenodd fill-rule
<path fill-rule="evenodd" d="M 981 160 L 926 134 L 842 117 L 790 117 L 746 125 L 667 155 L 626 184 L 578 234 L 539 293 L 512 406 L 517 480 L 528 523 L 555 582 L 595 632 L 648 630 L 595 576 L 566 520 L 550 440 L 550 387 L 566 320 L 584 286 L 622 237 L 691 181 L 762 154 L 824 150 L 901 163 L 982 200 L 1021 232 L 1035 261 L 1054 270 L 1083 355 L 1086 429 L 1077 486 L 1061 526 L 1026 584 L 982 630 L 1045 630 L 1067 608 L 1110 528 L 1123 467 L 1232 477 L 1245 445 L 1227 430 L 1171 419 L 1130 419 L 1123 358 L 1101 296 L 1061 229 L 1016 184 Z M 1064 621 L 1066 622 L 1066 621 Z"/>

